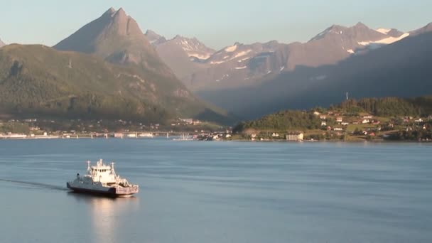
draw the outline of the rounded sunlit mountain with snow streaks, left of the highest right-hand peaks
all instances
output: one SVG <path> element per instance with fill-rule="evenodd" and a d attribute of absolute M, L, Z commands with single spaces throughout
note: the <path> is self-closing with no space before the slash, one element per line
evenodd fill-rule
<path fill-rule="evenodd" d="M 207 68 L 190 76 L 190 89 L 217 90 L 251 85 L 286 68 L 285 45 L 271 41 L 234 43 L 205 60 Z"/>

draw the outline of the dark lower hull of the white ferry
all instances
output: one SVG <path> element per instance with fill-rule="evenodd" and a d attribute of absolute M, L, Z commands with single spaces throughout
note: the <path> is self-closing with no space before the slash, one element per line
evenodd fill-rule
<path fill-rule="evenodd" d="M 92 195 L 102 195 L 112 198 L 130 197 L 138 193 L 138 188 L 83 188 L 73 185 L 73 183 L 66 183 L 66 186 L 73 190 L 75 193 L 86 193 Z"/>

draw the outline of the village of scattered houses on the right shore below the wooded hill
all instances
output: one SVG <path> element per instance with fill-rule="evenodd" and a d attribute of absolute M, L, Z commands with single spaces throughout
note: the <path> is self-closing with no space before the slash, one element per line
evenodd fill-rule
<path fill-rule="evenodd" d="M 305 129 L 271 126 L 243 129 L 234 139 L 250 141 L 432 141 L 432 115 L 428 117 L 377 117 L 366 112 L 309 111 L 314 124 Z"/>

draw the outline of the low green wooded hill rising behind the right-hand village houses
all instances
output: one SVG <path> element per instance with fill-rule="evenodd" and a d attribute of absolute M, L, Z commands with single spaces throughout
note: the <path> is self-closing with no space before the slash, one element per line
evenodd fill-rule
<path fill-rule="evenodd" d="M 260 119 L 246 121 L 238 124 L 234 132 L 242 133 L 248 129 L 255 131 L 293 131 L 293 130 L 313 130 L 320 129 L 321 119 L 313 114 L 314 111 L 320 113 L 332 112 L 345 117 L 360 117 L 360 114 L 371 114 L 374 117 L 428 117 L 432 114 L 432 97 L 416 98 L 365 98 L 350 99 L 330 108 L 315 108 L 310 111 L 286 110 L 269 114 Z M 327 124 L 335 124 L 334 119 L 329 119 Z M 333 117 L 335 118 L 335 117 Z"/>

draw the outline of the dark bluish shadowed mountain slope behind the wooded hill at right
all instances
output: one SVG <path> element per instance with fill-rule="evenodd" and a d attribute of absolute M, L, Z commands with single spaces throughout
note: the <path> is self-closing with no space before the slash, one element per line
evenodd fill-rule
<path fill-rule="evenodd" d="M 335 64 L 299 65 L 258 85 L 198 95 L 244 118 L 338 104 L 346 92 L 352 98 L 431 95 L 432 31 L 427 31 L 428 26 Z"/>

